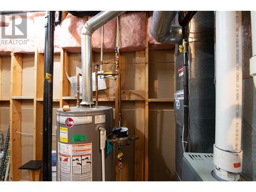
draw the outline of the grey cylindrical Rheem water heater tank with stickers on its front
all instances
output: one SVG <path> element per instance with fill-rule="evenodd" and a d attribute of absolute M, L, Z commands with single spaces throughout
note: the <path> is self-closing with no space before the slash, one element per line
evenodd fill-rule
<path fill-rule="evenodd" d="M 114 181 L 113 145 L 108 138 L 112 133 L 113 109 L 58 109 L 56 121 L 57 181 L 102 181 L 102 167 L 105 180 Z M 106 132 L 104 154 L 99 127 Z"/>

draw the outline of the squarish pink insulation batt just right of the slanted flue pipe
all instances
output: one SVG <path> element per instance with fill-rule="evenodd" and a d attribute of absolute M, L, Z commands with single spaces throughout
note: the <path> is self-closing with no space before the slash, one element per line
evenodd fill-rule
<path fill-rule="evenodd" d="M 145 12 L 126 12 L 119 16 L 121 52 L 145 50 Z"/>

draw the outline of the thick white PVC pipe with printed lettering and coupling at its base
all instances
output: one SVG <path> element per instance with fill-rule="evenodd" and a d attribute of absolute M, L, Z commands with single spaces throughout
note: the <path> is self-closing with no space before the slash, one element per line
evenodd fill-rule
<path fill-rule="evenodd" d="M 239 180 L 242 172 L 242 14 L 216 12 L 215 175 Z"/>

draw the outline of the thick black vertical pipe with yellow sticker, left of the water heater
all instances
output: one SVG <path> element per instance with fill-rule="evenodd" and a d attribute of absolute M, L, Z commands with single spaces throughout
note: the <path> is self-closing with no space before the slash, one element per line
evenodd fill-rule
<path fill-rule="evenodd" d="M 45 24 L 44 110 L 42 144 L 42 180 L 52 180 L 52 99 L 55 11 L 47 11 Z"/>

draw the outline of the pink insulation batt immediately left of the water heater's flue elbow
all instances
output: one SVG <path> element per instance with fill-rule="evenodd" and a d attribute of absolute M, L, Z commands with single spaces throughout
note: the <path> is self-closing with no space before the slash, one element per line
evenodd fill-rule
<path fill-rule="evenodd" d="M 71 53 L 81 52 L 81 32 L 88 17 L 68 14 L 60 26 L 60 48 Z"/>

